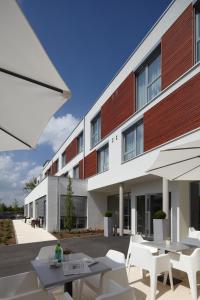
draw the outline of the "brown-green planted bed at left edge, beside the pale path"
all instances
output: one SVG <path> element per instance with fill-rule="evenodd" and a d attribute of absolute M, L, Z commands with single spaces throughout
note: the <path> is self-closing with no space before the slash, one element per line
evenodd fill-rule
<path fill-rule="evenodd" d="M 12 220 L 0 220 L 0 245 L 16 244 Z"/>

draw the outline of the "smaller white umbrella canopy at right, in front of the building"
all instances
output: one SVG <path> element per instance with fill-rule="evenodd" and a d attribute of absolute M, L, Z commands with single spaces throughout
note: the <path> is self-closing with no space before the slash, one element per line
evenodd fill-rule
<path fill-rule="evenodd" d="M 200 180 L 200 141 L 160 151 L 147 173 L 169 180 Z"/>

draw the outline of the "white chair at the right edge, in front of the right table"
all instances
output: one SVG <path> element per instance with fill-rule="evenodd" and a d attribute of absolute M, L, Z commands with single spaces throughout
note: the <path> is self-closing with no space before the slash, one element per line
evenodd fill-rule
<path fill-rule="evenodd" d="M 197 300 L 197 271 L 200 271 L 200 248 L 192 254 L 170 253 L 172 268 L 187 273 L 192 299 Z"/>

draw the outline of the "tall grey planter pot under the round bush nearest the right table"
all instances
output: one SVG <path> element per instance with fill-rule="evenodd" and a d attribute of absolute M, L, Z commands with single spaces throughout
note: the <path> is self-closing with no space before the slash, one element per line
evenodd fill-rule
<path fill-rule="evenodd" d="M 167 219 L 153 219 L 154 241 L 164 241 L 169 236 L 169 222 Z"/>

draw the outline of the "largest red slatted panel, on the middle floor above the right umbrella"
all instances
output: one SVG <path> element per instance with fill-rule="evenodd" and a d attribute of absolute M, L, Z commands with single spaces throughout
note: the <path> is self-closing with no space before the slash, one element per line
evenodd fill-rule
<path fill-rule="evenodd" d="M 200 74 L 144 114 L 144 150 L 200 127 Z"/>

